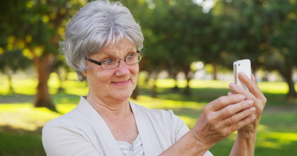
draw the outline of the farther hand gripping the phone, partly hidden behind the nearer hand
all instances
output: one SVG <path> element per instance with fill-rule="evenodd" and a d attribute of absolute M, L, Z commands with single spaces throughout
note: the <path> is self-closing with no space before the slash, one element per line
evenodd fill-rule
<path fill-rule="evenodd" d="M 242 127 L 238 130 L 239 133 L 247 133 L 247 134 L 253 134 L 257 131 L 258 124 L 260 122 L 261 114 L 263 112 L 263 109 L 265 107 L 265 104 L 267 102 L 267 99 L 259 89 L 259 87 L 256 84 L 255 77 L 252 75 L 251 79 L 249 79 L 244 73 L 239 74 L 239 79 L 245 83 L 248 90 L 245 90 L 244 88 L 240 87 L 236 83 L 230 83 L 229 87 L 230 89 L 237 94 L 243 94 L 247 97 L 247 99 L 250 99 L 253 101 L 253 107 L 256 108 L 256 111 L 252 114 L 252 117 L 255 117 L 256 119 L 247 124 L 246 126 Z M 233 96 L 232 92 L 228 92 L 229 96 Z"/>

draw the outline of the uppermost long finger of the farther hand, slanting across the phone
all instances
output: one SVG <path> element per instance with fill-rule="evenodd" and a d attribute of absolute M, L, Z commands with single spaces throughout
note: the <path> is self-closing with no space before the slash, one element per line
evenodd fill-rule
<path fill-rule="evenodd" d="M 245 85 L 247 86 L 249 92 L 251 92 L 255 97 L 259 98 L 259 97 L 263 97 L 264 95 L 262 94 L 260 88 L 257 86 L 257 84 L 252 81 L 251 79 L 249 79 L 244 73 L 240 72 L 238 75 L 238 78 L 245 83 Z M 252 78 L 254 78 L 252 76 Z"/>

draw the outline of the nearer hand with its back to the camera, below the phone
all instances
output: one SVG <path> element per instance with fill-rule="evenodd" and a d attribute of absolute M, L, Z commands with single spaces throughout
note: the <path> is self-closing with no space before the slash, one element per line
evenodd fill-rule
<path fill-rule="evenodd" d="M 208 103 L 191 133 L 203 146 L 212 146 L 254 121 L 253 100 L 242 94 L 222 96 Z"/>

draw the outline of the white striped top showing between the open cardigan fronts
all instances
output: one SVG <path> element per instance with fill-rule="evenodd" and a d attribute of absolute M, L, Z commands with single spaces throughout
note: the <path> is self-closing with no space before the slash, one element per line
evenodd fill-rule
<path fill-rule="evenodd" d="M 124 156 L 144 156 L 144 148 L 138 135 L 133 141 L 132 145 L 125 141 L 117 141 L 119 148 L 121 149 Z"/>

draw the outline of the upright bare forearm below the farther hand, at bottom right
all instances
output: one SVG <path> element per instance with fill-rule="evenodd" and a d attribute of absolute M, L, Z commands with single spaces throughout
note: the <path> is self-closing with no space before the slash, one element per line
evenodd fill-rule
<path fill-rule="evenodd" d="M 257 132 L 243 134 L 238 132 L 230 156 L 253 156 Z"/>

